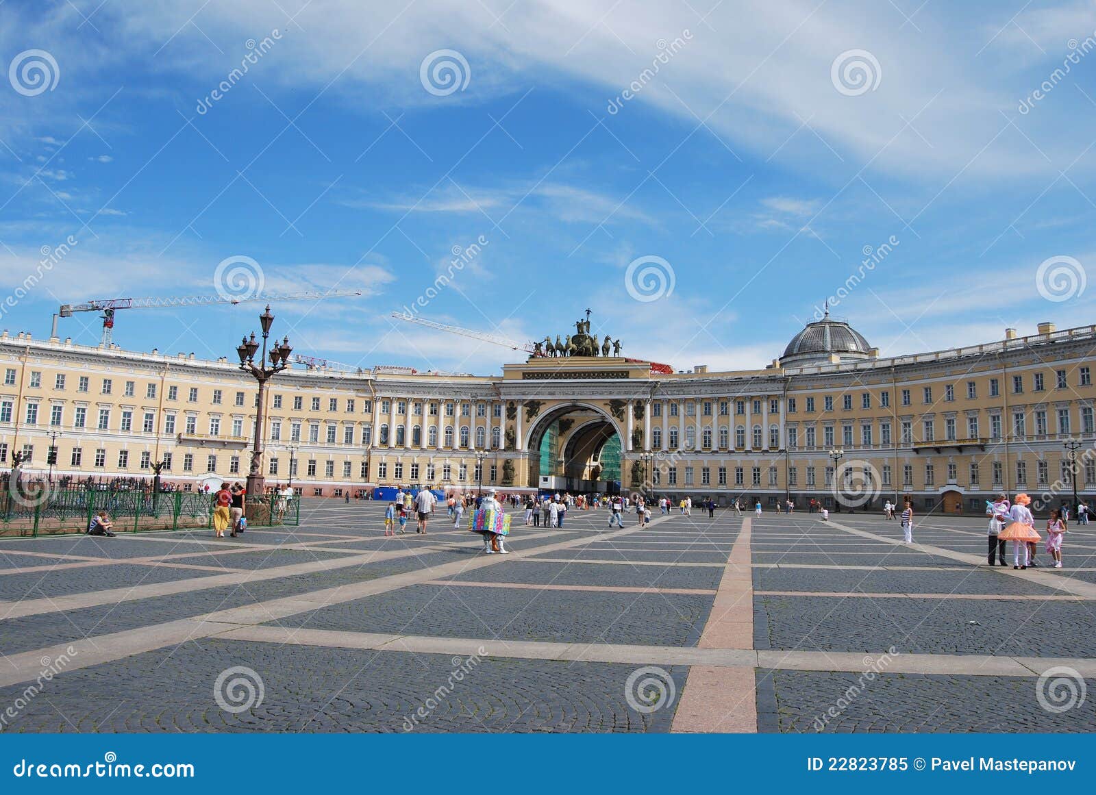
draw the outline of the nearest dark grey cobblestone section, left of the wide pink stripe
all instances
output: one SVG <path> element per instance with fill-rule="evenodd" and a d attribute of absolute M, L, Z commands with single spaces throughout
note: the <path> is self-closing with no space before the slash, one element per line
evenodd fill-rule
<path fill-rule="evenodd" d="M 218 671 L 241 659 L 262 678 L 265 698 L 233 714 L 216 707 L 213 683 Z M 168 680 L 159 653 L 67 670 L 49 683 L 48 699 L 34 699 L 19 713 L 11 730 L 658 733 L 667 731 L 672 718 L 671 710 L 641 713 L 629 707 L 625 683 L 635 670 L 630 664 L 483 656 L 463 664 L 467 673 L 438 698 L 438 685 L 453 681 L 449 654 L 209 640 L 201 647 L 176 649 L 173 661 L 178 672 Z M 667 672 L 684 680 L 684 669 Z M 129 683 L 123 692 L 132 694 L 133 683 L 157 680 L 152 704 L 118 698 L 119 682 Z M 0 701 L 12 703 L 21 692 L 0 690 Z M 544 693 L 552 698 L 544 699 Z M 419 713 L 427 703 L 431 708 Z M 73 723 L 64 715 L 72 715 Z"/>

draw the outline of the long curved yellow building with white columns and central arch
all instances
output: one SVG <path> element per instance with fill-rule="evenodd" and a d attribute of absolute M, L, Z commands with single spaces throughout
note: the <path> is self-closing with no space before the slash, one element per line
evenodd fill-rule
<path fill-rule="evenodd" d="M 981 514 L 998 491 L 1096 488 L 1096 326 L 880 358 L 848 323 L 809 324 L 762 370 L 663 373 L 614 356 L 530 357 L 501 376 L 290 370 L 266 391 L 267 484 L 636 492 L 766 507 L 811 497 Z M 581 348 L 579 348 L 581 350 Z M 597 353 L 601 353 L 600 350 Z M 54 476 L 242 480 L 258 390 L 227 359 L 0 337 L 0 463 Z M 53 437 L 52 434 L 58 434 Z M 840 451 L 841 456 L 833 453 Z M 482 466 L 482 470 L 480 469 Z"/>

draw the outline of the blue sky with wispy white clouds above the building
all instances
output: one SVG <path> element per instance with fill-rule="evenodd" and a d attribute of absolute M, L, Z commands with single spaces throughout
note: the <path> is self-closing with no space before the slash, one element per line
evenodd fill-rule
<path fill-rule="evenodd" d="M 680 369 L 764 366 L 854 275 L 834 313 L 882 355 L 1092 323 L 1096 286 L 1037 274 L 1096 263 L 1096 3 L 954 5 L 7 0 L 0 292 L 77 244 L 2 326 L 217 295 L 246 256 L 266 290 L 363 289 L 276 307 L 297 353 L 494 372 L 511 352 L 388 318 L 478 240 L 423 316 L 529 339 L 589 307 Z M 673 291 L 636 300 L 638 257 Z M 123 312 L 115 342 L 231 355 L 260 310 Z"/>

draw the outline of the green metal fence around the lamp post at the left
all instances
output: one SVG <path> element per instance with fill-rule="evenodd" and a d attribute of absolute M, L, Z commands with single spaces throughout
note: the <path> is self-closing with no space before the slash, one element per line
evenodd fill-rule
<path fill-rule="evenodd" d="M 213 526 L 213 495 L 201 492 L 41 488 L 0 492 L 0 538 L 82 533 L 91 518 L 107 511 L 116 533 Z M 300 523 L 299 500 L 277 496 L 248 499 L 248 525 Z"/>

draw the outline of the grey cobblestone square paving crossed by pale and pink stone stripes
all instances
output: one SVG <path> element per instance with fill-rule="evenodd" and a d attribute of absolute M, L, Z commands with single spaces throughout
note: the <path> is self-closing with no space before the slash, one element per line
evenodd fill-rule
<path fill-rule="evenodd" d="M 383 509 L 0 540 L 0 733 L 1096 730 L 1096 526 L 1014 572 L 978 517 Z"/>

